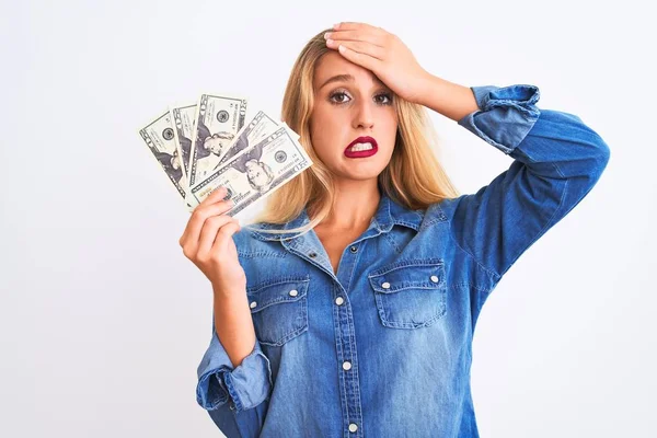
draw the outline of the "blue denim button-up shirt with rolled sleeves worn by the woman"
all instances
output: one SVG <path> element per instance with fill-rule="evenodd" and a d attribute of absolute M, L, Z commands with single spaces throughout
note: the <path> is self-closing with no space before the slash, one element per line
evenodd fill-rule
<path fill-rule="evenodd" d="M 256 343 L 232 367 L 214 325 L 197 402 L 232 437 L 479 437 L 477 316 L 518 257 L 593 187 L 607 143 L 533 85 L 472 87 L 458 124 L 514 161 L 474 194 L 410 210 L 382 194 L 337 274 L 314 231 L 233 235 Z M 308 223 L 306 210 L 284 226 Z"/>

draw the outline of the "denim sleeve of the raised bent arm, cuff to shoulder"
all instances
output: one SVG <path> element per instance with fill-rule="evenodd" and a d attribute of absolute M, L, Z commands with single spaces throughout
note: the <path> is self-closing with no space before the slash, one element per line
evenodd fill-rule
<path fill-rule="evenodd" d="M 591 191 L 610 150 L 579 117 L 539 110 L 537 87 L 471 90 L 477 110 L 459 125 L 514 162 L 475 194 L 456 199 L 451 231 L 457 244 L 499 280 Z M 437 101 L 434 106 L 445 108 Z"/>

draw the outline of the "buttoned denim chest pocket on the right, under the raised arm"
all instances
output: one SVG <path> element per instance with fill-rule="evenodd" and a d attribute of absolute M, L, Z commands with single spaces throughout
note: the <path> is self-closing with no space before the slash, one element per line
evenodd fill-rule
<path fill-rule="evenodd" d="M 395 262 L 368 275 L 381 323 L 417 328 L 447 312 L 445 262 L 441 258 Z"/>

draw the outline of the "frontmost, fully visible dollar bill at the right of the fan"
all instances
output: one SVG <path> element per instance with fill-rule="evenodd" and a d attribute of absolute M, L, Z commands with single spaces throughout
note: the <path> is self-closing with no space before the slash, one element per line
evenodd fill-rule
<path fill-rule="evenodd" d="M 218 187 L 227 187 L 234 216 L 264 199 L 313 162 L 289 127 L 281 126 L 258 143 L 233 155 L 208 178 L 189 189 L 191 204 L 198 205 Z"/>

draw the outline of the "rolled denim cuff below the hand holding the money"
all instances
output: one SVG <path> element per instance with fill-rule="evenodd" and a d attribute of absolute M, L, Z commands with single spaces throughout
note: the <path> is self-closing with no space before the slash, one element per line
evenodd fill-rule
<path fill-rule="evenodd" d="M 230 408 L 240 412 L 265 401 L 273 387 L 272 366 L 256 338 L 253 350 L 234 367 L 216 332 L 197 370 L 196 401 L 207 411 L 231 401 Z"/>

